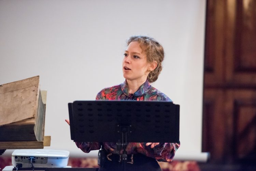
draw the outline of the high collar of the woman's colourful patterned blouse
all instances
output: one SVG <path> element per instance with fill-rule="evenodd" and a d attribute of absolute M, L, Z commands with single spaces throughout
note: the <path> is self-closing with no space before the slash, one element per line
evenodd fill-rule
<path fill-rule="evenodd" d="M 145 83 L 143 83 L 140 88 L 134 92 L 134 94 L 129 93 L 128 84 L 125 80 L 124 83 L 121 84 L 121 89 L 124 92 L 124 94 L 128 97 L 139 97 L 145 94 L 149 89 L 151 88 L 150 83 L 146 80 Z"/>

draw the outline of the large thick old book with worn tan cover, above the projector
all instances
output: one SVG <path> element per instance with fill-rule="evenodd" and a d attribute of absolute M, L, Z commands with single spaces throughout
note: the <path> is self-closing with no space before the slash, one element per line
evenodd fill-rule
<path fill-rule="evenodd" d="M 44 120 L 39 76 L 0 86 L 0 141 L 43 141 Z"/>

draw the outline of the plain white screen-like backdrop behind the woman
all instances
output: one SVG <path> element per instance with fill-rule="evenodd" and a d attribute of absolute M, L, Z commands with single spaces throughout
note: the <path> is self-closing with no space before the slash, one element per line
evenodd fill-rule
<path fill-rule="evenodd" d="M 166 53 L 152 85 L 181 106 L 176 156 L 200 154 L 204 23 L 205 0 L 1 0 L 0 84 L 40 75 L 48 91 L 45 135 L 52 136 L 45 148 L 95 155 L 70 140 L 68 102 L 94 100 L 122 83 L 126 40 L 149 35 Z"/>

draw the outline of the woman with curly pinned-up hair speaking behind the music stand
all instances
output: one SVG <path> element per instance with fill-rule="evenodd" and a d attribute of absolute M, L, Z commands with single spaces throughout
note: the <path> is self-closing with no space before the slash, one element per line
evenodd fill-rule
<path fill-rule="evenodd" d="M 155 39 L 146 36 L 132 36 L 127 45 L 123 59 L 125 82 L 102 89 L 96 100 L 171 101 L 150 85 L 157 80 L 162 70 L 163 47 Z M 107 154 L 103 170 L 121 170 L 122 161 L 116 143 L 76 142 L 76 145 L 85 153 L 102 146 Z M 179 147 L 180 143 L 129 143 L 126 151 L 133 163 L 128 162 L 126 170 L 161 170 L 156 160 L 171 161 Z"/>

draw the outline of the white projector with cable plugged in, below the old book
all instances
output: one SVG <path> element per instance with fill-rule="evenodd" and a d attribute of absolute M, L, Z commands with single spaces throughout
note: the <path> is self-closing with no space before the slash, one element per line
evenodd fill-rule
<path fill-rule="evenodd" d="M 22 164 L 22 168 L 64 168 L 68 165 L 69 151 L 54 149 L 15 149 L 12 164 Z"/>

